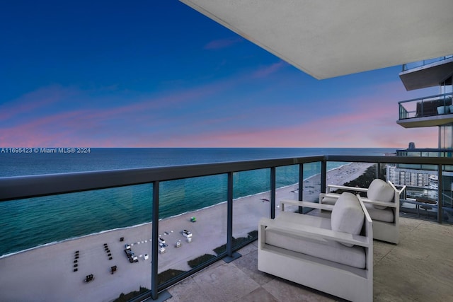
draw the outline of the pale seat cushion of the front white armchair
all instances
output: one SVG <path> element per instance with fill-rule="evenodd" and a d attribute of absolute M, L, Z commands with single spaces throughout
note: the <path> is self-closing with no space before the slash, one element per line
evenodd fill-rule
<path fill-rule="evenodd" d="M 282 212 L 276 221 L 299 223 L 306 226 L 331 229 L 331 219 L 297 214 L 292 212 Z M 337 262 L 350 267 L 365 268 L 365 249 L 360 246 L 347 247 L 333 240 L 317 240 L 316 238 L 297 238 L 289 234 L 282 235 L 280 232 L 273 231 L 272 227 L 266 228 L 265 242 L 286 250 L 301 252 L 305 255 L 319 257 L 324 260 Z"/>

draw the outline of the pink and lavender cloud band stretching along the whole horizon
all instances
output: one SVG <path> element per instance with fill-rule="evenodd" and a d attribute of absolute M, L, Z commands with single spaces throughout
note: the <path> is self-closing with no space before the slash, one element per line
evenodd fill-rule
<path fill-rule="evenodd" d="M 253 75 L 273 74 L 282 66 L 279 62 Z M 311 101 L 308 105 L 303 99 L 300 104 L 243 105 L 260 98 L 262 91 L 244 96 L 241 102 L 222 103 L 224 99 L 215 98 L 216 103 L 206 105 L 212 96 L 250 80 L 251 74 L 246 74 L 159 97 L 142 95 L 133 103 L 123 101 L 113 108 L 92 106 L 41 115 L 0 129 L 0 146 L 394 148 L 405 147 L 408 141 L 420 147 L 437 146 L 437 128 L 404 129 L 396 124 L 398 98 L 404 99 L 398 95 L 404 95 L 397 87 L 401 83 L 396 82 L 374 87 L 373 93 L 316 99 L 316 104 Z M 37 98 L 41 102 L 36 108 L 60 100 L 64 103 L 67 95 L 76 95 L 85 103 L 91 98 L 90 92 L 55 91 L 59 89 L 62 93 L 55 92 L 52 98 Z M 33 108 L 30 95 L 33 93 L 23 97 L 20 108 L 8 105 L 12 110 L 9 119 Z M 217 114 L 222 105 L 225 114 Z"/>

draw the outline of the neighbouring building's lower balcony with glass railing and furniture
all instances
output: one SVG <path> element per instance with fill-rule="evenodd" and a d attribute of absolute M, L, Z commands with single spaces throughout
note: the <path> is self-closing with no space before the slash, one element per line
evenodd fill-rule
<path fill-rule="evenodd" d="M 453 122 L 453 93 L 398 102 L 399 125 L 405 128 L 435 127 Z"/>

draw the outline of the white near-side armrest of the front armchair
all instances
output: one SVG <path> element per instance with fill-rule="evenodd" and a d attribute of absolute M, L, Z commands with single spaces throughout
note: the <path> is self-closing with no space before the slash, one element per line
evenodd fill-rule
<path fill-rule="evenodd" d="M 372 238 L 367 238 L 365 236 L 332 231 L 326 228 L 316 228 L 314 226 L 304 226 L 298 223 L 291 223 L 288 221 L 275 221 L 275 219 L 262 218 L 260 219 L 258 224 L 259 227 L 262 229 L 267 226 L 270 226 L 276 233 L 281 233 L 282 235 L 291 234 L 291 236 L 295 236 L 297 238 L 334 240 L 337 241 L 338 243 L 359 245 L 364 248 L 369 248 L 369 246 L 372 243 Z M 263 236 L 263 238 L 265 238 L 265 236 Z M 262 243 L 265 243 L 265 241 L 262 241 Z"/>

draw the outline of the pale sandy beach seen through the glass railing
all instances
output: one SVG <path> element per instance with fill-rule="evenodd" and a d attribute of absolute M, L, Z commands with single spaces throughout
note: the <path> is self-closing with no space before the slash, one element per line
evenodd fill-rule
<path fill-rule="evenodd" d="M 331 170 L 327 183 L 343 185 L 358 178 L 370 165 L 352 163 Z M 318 199 L 319 183 L 320 175 L 304 181 L 304 200 Z M 278 189 L 277 204 L 283 198 L 297 199 L 298 189 L 298 185 Z M 235 238 L 246 237 L 257 229 L 258 220 L 268 216 L 269 199 L 266 192 L 234 200 Z M 190 221 L 192 216 L 197 222 Z M 0 301 L 113 301 L 139 286 L 149 288 L 151 228 L 152 223 L 146 223 L 0 258 Z M 188 243 L 181 233 L 184 229 L 193 233 L 192 242 Z M 159 234 L 168 245 L 166 252 L 159 254 L 159 273 L 188 270 L 188 260 L 215 255 L 213 249 L 226 243 L 226 203 L 159 221 Z M 131 245 L 138 262 L 127 260 L 125 244 Z M 145 254 L 149 255 L 147 260 Z M 110 272 L 113 266 L 117 267 L 114 274 Z M 88 274 L 93 274 L 93 281 L 84 281 Z"/>

